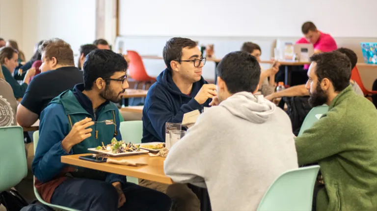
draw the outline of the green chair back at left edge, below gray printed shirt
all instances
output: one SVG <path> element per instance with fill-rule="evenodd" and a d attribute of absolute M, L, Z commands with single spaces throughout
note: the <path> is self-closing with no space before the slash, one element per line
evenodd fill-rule
<path fill-rule="evenodd" d="M 0 127 L 0 192 L 19 184 L 26 175 L 27 161 L 22 127 Z"/>

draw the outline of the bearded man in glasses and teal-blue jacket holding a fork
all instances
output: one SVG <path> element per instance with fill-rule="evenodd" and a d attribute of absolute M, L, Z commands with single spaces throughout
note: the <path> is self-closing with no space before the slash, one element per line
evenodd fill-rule
<path fill-rule="evenodd" d="M 156 190 L 128 183 L 126 176 L 69 166 L 62 156 L 89 153 L 88 148 L 115 137 L 118 108 L 127 82 L 127 62 L 109 50 L 90 52 L 83 64 L 84 83 L 67 90 L 41 114 L 33 160 L 35 187 L 43 200 L 81 211 L 169 211 L 170 199 Z M 100 123 L 109 120 L 114 124 Z"/>

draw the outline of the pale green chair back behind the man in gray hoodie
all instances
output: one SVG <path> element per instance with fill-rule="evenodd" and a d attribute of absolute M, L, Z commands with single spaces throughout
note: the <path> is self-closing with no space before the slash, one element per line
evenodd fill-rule
<path fill-rule="evenodd" d="M 290 170 L 269 187 L 257 211 L 311 211 L 319 165 Z"/>

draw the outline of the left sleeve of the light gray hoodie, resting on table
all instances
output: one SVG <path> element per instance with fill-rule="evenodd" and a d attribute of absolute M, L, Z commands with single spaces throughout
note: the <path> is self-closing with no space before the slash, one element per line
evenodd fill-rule
<path fill-rule="evenodd" d="M 204 178 L 210 165 L 218 164 L 215 163 L 219 151 L 214 146 L 214 134 L 224 131 L 219 129 L 216 120 L 219 114 L 215 110 L 211 108 L 203 112 L 196 124 L 170 149 L 164 162 L 164 171 L 174 182 L 206 187 Z"/>

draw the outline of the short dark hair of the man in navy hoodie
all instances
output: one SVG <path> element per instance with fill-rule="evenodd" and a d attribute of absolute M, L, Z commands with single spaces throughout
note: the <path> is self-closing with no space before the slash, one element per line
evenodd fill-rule
<path fill-rule="evenodd" d="M 163 60 L 165 61 L 167 69 L 171 70 L 170 62 L 174 60 L 180 60 L 182 58 L 183 48 L 195 48 L 197 46 L 196 42 L 182 37 L 170 38 L 165 47 L 163 47 Z"/>

